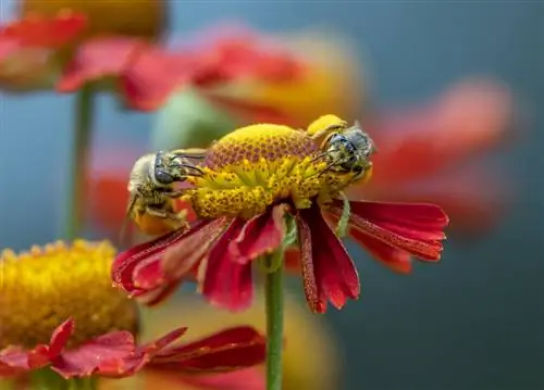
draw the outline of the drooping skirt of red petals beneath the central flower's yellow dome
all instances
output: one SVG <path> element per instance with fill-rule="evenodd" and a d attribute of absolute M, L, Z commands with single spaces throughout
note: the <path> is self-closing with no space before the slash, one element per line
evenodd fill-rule
<path fill-rule="evenodd" d="M 349 236 L 388 267 L 407 273 L 411 256 L 440 260 L 444 212 L 432 204 L 350 202 Z M 288 263 L 300 266 L 306 298 L 312 311 L 323 313 L 326 302 L 341 309 L 359 297 L 359 277 L 331 223 L 342 204 L 330 209 L 293 211 L 285 204 L 249 221 L 197 222 L 188 231 L 173 232 L 121 253 L 113 279 L 147 304 L 156 304 L 181 280 L 199 271 L 200 290 L 218 305 L 244 310 L 252 299 L 251 261 L 280 248 L 285 237 L 283 217 L 297 223 L 300 255 L 289 251 Z"/>

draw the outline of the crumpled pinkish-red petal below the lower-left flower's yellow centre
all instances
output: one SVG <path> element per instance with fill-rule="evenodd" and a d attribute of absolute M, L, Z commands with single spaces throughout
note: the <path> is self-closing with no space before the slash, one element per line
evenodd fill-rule
<path fill-rule="evenodd" d="M 51 366 L 64 378 L 86 377 L 99 373 L 101 366 L 119 367 L 135 351 L 134 337 L 128 331 L 114 331 L 97 337 L 53 360 Z"/>

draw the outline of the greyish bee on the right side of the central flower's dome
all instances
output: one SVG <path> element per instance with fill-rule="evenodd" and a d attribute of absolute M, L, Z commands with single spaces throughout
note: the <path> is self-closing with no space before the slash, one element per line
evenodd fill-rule
<path fill-rule="evenodd" d="M 323 153 L 317 158 L 327 162 L 324 172 L 353 173 L 353 181 L 371 172 L 370 156 L 376 151 L 375 144 L 358 122 L 348 127 L 345 121 L 325 115 L 310 125 L 308 133 L 313 139 L 324 137 Z"/>

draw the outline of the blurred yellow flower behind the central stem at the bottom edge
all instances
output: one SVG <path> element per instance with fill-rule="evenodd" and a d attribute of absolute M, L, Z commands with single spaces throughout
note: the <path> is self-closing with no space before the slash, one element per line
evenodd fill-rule
<path fill-rule="evenodd" d="M 190 313 L 190 315 L 183 315 Z M 248 324 L 259 331 L 265 331 L 264 297 L 258 292 L 255 304 L 244 313 L 218 311 L 208 305 L 198 295 L 176 295 L 164 305 L 151 311 L 144 311 L 143 339 L 152 340 L 183 319 L 190 329 L 187 340 L 201 335 L 214 332 L 219 327 L 234 327 Z M 183 318 L 182 318 L 183 316 Z M 324 318 L 311 315 L 304 305 L 290 293 L 285 294 L 285 350 L 283 355 L 283 386 L 284 390 L 339 390 L 339 351 L 334 342 L 332 332 L 327 329 Z M 310 348 L 311 345 L 311 348 Z M 311 349 L 311 353 L 308 353 Z M 263 378 L 263 365 L 254 370 Z M 243 376 L 245 386 L 222 390 L 252 390 L 256 378 L 247 378 L 247 370 L 231 375 Z M 100 390 L 128 390 L 133 387 L 124 386 L 127 380 L 107 381 Z M 233 382 L 235 382 L 233 380 Z M 140 376 L 141 390 L 194 390 L 186 382 L 181 382 L 174 376 L 166 376 L 160 372 L 145 370 Z M 258 389 L 258 387 L 255 387 Z"/>

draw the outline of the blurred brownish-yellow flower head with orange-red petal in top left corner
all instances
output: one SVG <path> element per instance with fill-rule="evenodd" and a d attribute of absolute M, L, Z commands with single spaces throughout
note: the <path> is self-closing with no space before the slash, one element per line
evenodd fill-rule
<path fill-rule="evenodd" d="M 25 0 L 18 5 L 21 18 L 0 27 L 0 87 L 12 92 L 53 88 L 74 66 L 73 56 L 96 66 L 88 52 L 97 42 L 109 49 L 110 66 L 118 60 L 119 73 L 133 50 L 158 38 L 166 23 L 166 3 L 160 0 L 129 7 L 115 0 Z M 132 49 L 127 52 L 119 41 L 128 41 Z"/>

